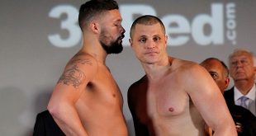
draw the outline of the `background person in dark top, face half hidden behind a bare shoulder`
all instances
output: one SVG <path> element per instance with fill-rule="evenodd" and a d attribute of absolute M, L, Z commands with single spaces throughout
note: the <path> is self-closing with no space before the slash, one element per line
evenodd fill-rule
<path fill-rule="evenodd" d="M 229 69 L 220 59 L 208 58 L 201 62 L 201 66 L 206 68 L 211 77 L 215 80 L 222 94 L 229 86 Z M 235 121 L 239 136 L 256 135 L 256 117 L 242 106 L 229 106 L 230 114 Z"/>

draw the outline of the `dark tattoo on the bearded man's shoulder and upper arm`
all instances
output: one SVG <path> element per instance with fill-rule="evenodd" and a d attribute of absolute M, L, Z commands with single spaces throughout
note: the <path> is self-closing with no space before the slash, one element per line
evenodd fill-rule
<path fill-rule="evenodd" d="M 89 59 L 71 59 L 69 63 L 73 66 L 64 71 L 59 78 L 58 83 L 63 82 L 65 85 L 72 85 L 73 87 L 78 88 L 83 83 L 86 76 L 80 69 L 78 69 L 77 63 L 92 65 L 92 62 L 90 62 Z"/>

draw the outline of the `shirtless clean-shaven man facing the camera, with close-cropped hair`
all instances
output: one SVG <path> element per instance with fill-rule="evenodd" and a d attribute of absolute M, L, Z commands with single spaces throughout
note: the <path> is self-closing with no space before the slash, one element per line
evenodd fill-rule
<path fill-rule="evenodd" d="M 135 134 L 235 136 L 235 124 L 216 83 L 197 63 L 169 57 L 163 22 L 140 16 L 130 28 L 130 46 L 145 76 L 128 91 Z"/>

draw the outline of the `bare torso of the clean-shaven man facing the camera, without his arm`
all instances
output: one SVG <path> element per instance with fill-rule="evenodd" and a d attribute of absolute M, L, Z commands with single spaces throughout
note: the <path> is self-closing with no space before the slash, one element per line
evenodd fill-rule
<path fill-rule="evenodd" d="M 206 135 L 205 121 L 183 87 L 179 73 L 170 69 L 158 81 L 143 77 L 130 89 L 130 107 L 140 124 L 147 126 L 149 135 Z"/>

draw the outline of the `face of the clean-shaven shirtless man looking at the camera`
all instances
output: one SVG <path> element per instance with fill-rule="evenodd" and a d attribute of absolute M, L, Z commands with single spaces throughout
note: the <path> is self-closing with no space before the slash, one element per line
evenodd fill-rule
<path fill-rule="evenodd" d="M 130 46 L 142 63 L 158 63 L 166 54 L 167 36 L 159 23 L 136 24 Z"/>

